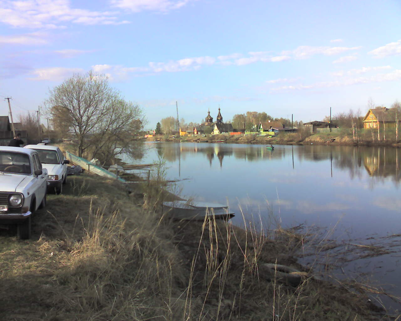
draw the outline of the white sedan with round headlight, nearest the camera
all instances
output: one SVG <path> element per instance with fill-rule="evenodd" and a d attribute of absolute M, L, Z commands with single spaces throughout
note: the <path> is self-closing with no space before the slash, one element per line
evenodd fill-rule
<path fill-rule="evenodd" d="M 21 239 L 30 238 L 31 216 L 46 205 L 47 179 L 36 151 L 0 146 L 0 224 L 17 224 Z"/>

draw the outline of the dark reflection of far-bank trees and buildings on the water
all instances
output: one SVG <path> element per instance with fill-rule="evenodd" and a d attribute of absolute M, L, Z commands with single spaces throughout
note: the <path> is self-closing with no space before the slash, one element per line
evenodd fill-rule
<path fill-rule="evenodd" d="M 294 157 L 298 163 L 302 161 L 320 162 L 330 160 L 331 176 L 334 169 L 345 169 L 351 179 L 362 177 L 362 171 L 367 171 L 371 177 L 391 179 L 398 183 L 401 178 L 399 170 L 399 148 L 393 147 L 354 147 L 354 146 L 276 146 L 274 150 L 266 149 L 265 145 L 240 144 L 156 144 L 159 155 L 173 163 L 185 160 L 188 155 L 204 154 L 210 167 L 217 161 L 223 167 L 224 159 L 234 157 L 250 162 L 259 162 Z"/>

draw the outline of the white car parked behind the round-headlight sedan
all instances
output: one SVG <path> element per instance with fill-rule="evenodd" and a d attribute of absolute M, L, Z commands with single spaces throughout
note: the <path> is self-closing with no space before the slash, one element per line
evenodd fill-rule
<path fill-rule="evenodd" d="M 67 164 L 70 161 L 64 158 L 60 148 L 49 145 L 26 145 L 24 148 L 38 152 L 42 167 L 49 173 L 49 191 L 61 194 L 63 184 L 67 183 Z"/>

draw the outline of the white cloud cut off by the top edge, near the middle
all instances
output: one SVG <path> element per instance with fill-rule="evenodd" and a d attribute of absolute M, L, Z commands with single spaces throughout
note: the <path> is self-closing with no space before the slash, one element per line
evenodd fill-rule
<path fill-rule="evenodd" d="M 132 12 L 168 12 L 181 8 L 191 1 L 193 0 L 111 0 L 111 4 L 115 7 L 130 10 Z"/>

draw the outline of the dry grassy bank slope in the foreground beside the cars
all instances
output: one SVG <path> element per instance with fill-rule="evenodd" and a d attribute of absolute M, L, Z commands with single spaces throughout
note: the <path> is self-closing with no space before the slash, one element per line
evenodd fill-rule
<path fill-rule="evenodd" d="M 297 267 L 299 236 L 172 222 L 157 189 L 142 191 L 144 200 L 115 181 L 69 177 L 36 213 L 31 240 L 1 230 L 0 319 L 380 319 L 366 297 L 307 273 L 294 287 L 263 272 L 262 262 Z"/>

